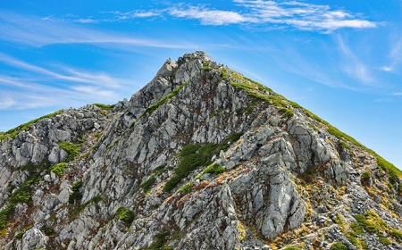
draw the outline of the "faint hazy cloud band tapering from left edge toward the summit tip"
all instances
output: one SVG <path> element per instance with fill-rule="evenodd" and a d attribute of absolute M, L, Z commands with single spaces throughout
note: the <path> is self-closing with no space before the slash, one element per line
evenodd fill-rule
<path fill-rule="evenodd" d="M 82 19 L 80 22 L 81 24 L 88 23 L 89 20 Z M 91 20 L 91 22 L 97 21 Z M 90 29 L 79 24 L 61 21 L 54 16 L 38 18 L 1 10 L 0 30 L 2 30 L 0 40 L 28 46 L 91 44 L 94 46 L 119 46 L 120 49 L 132 46 L 187 49 L 196 47 L 180 40 L 172 39 L 171 42 L 167 42 L 111 30 Z"/>

